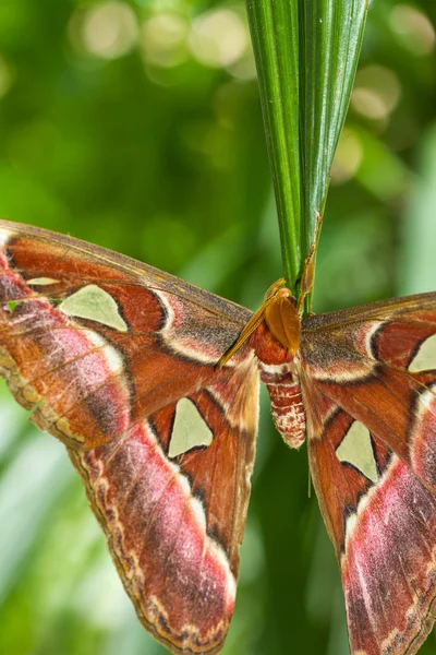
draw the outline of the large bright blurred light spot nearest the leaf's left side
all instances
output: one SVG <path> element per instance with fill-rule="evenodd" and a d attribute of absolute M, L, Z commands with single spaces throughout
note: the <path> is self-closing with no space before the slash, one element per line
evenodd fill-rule
<path fill-rule="evenodd" d="M 217 9 L 192 23 L 189 45 L 193 56 L 210 68 L 223 68 L 241 59 L 249 44 L 242 19 L 230 9 Z"/>

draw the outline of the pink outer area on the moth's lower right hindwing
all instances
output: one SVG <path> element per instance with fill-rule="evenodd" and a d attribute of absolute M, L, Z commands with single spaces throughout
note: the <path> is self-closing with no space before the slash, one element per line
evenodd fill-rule
<path fill-rule="evenodd" d="M 434 621 L 436 500 L 392 456 L 347 524 L 342 583 L 353 653 L 415 653 Z"/>

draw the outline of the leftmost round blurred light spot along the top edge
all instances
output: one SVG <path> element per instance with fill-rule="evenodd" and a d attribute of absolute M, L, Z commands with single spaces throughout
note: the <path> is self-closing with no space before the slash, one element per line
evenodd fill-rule
<path fill-rule="evenodd" d="M 136 15 L 122 2 L 105 2 L 92 8 L 82 23 L 85 49 L 102 59 L 126 55 L 135 46 L 137 35 Z"/>

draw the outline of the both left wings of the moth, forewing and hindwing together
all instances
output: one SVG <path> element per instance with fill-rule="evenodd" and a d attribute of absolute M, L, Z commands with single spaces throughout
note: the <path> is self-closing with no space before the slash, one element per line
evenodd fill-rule
<path fill-rule="evenodd" d="M 0 222 L 0 373 L 60 438 L 144 626 L 216 653 L 257 429 L 250 312 L 101 248 Z"/>

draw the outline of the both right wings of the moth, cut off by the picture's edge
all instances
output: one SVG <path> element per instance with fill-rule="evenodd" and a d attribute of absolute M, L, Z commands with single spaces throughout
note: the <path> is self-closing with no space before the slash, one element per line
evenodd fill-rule
<path fill-rule="evenodd" d="M 416 653 L 436 616 L 436 294 L 304 322 L 312 475 L 353 655 Z"/>

